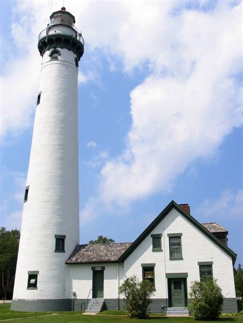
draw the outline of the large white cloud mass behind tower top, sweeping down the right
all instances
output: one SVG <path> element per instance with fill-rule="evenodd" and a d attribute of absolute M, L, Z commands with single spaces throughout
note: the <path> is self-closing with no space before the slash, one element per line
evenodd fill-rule
<path fill-rule="evenodd" d="M 83 213 L 93 212 L 94 200 L 98 209 L 113 204 L 127 207 L 170 189 L 193 161 L 213 156 L 232 129 L 242 124 L 241 89 L 233 78 L 241 69 L 241 4 L 232 7 L 230 1 L 219 1 L 211 11 L 188 10 L 186 5 L 180 1 L 80 5 L 73 0 L 66 4 L 75 14 L 76 26 L 83 28 L 89 48 L 90 67 L 82 70 L 79 82 L 100 82 L 102 54 L 112 71 L 147 73 L 131 92 L 132 126 L 126 147 L 116 158 L 99 156 L 94 161 L 104 166 L 97 196 L 90 198 Z M 53 3 L 53 11 L 58 6 Z M 22 18 L 12 24 L 18 55 L 6 64 L 2 81 L 5 134 L 30 124 L 40 58 L 36 44 L 28 39 L 37 39 L 43 29 L 46 3 L 22 0 L 15 11 Z M 26 28 L 28 16 L 32 19 Z"/>

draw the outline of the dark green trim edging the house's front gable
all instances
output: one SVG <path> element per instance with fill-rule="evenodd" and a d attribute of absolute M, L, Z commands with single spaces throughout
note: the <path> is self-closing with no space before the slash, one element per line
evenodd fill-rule
<path fill-rule="evenodd" d="M 214 244 L 216 244 L 220 249 L 231 256 L 233 265 L 236 260 L 236 253 L 233 250 L 222 244 L 208 229 L 201 225 L 196 219 L 194 219 L 189 213 L 185 212 L 175 201 L 171 201 L 167 207 L 161 211 L 154 221 L 142 232 L 138 238 L 133 242 L 133 244 L 119 257 L 119 262 L 124 262 L 127 257 L 137 248 L 137 246 L 148 236 L 148 234 L 167 216 L 167 214 L 172 210 L 176 209 L 185 219 L 191 222 L 197 229 L 199 229 L 203 234 L 205 234 Z"/>

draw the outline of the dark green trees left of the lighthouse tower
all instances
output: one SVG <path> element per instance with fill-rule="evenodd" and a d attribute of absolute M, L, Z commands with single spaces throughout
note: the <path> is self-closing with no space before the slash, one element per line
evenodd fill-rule
<path fill-rule="evenodd" d="M 0 296 L 12 299 L 20 231 L 0 229 Z"/>

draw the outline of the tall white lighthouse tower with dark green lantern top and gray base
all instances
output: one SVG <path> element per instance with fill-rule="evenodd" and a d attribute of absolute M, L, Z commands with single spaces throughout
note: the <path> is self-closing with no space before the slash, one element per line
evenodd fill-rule
<path fill-rule="evenodd" d="M 11 306 L 21 311 L 70 310 L 65 261 L 79 242 L 77 75 L 84 40 L 64 7 L 50 19 L 38 39 L 42 69 Z"/>

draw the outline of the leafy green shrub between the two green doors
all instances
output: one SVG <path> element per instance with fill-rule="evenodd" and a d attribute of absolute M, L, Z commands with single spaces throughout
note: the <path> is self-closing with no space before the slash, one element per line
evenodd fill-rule
<path fill-rule="evenodd" d="M 151 303 L 153 294 L 153 285 L 147 279 L 139 282 L 138 278 L 133 275 L 128 277 L 119 287 L 119 294 L 125 296 L 125 306 L 131 318 L 148 317 L 148 307 Z"/>

